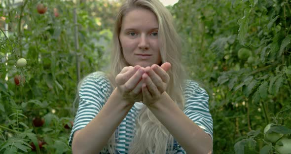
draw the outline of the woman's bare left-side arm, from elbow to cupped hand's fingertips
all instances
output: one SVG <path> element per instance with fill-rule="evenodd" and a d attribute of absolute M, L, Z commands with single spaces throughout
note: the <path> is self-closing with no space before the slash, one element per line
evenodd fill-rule
<path fill-rule="evenodd" d="M 136 66 L 125 67 L 117 75 L 117 87 L 103 108 L 84 128 L 74 133 L 73 154 L 97 154 L 104 148 L 134 102 L 140 101 L 143 74 L 144 69 Z"/>

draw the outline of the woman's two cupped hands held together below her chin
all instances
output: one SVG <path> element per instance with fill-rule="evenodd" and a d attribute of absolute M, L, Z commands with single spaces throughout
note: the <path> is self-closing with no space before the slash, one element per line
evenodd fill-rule
<path fill-rule="evenodd" d="M 127 66 L 115 77 L 117 90 L 122 99 L 129 103 L 142 101 L 150 105 L 159 100 L 165 92 L 170 77 L 168 71 L 171 64 L 166 62 L 161 66 L 153 64 L 143 68 L 141 66 Z"/>

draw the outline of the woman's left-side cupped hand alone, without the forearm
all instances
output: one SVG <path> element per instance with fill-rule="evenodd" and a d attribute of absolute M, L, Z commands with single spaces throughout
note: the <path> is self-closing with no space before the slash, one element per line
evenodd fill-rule
<path fill-rule="evenodd" d="M 122 98 L 130 103 L 140 102 L 142 95 L 142 76 L 145 69 L 140 66 L 124 67 L 122 71 L 115 77 L 117 90 Z"/>

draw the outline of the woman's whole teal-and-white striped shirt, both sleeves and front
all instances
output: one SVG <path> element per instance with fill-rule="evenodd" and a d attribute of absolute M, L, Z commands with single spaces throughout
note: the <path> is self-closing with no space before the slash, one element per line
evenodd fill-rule
<path fill-rule="evenodd" d="M 79 105 L 74 119 L 69 145 L 72 146 L 73 133 L 84 128 L 102 109 L 107 102 L 112 87 L 109 79 L 102 72 L 94 72 L 85 77 L 79 89 Z M 185 107 L 184 114 L 200 126 L 213 138 L 213 119 L 209 112 L 207 92 L 198 83 L 186 80 L 183 88 Z M 115 131 L 116 154 L 127 154 L 134 137 L 135 120 L 143 107 L 135 105 L 128 112 Z M 174 154 L 186 154 L 183 148 L 174 140 Z"/>

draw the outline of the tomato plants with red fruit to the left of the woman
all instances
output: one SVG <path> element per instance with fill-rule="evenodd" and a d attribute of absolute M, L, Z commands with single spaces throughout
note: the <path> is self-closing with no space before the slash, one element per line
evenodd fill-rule
<path fill-rule="evenodd" d="M 78 76 L 106 67 L 111 31 L 104 25 L 112 25 L 112 8 L 118 5 L 102 0 L 0 3 L 1 154 L 72 154 L 68 140 Z"/>

